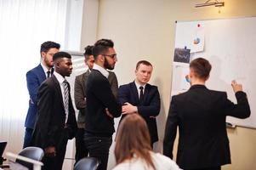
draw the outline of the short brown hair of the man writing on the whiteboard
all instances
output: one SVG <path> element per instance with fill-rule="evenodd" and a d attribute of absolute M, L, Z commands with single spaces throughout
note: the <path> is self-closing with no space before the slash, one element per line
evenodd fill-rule
<path fill-rule="evenodd" d="M 206 80 L 210 75 L 212 65 L 207 59 L 197 58 L 191 61 L 190 68 L 193 69 L 196 77 Z"/>

